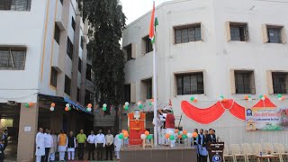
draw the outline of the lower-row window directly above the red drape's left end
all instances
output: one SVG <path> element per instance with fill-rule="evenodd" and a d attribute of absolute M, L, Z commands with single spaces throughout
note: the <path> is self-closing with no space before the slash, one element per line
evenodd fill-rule
<path fill-rule="evenodd" d="M 204 94 L 203 73 L 176 75 L 177 94 Z"/>

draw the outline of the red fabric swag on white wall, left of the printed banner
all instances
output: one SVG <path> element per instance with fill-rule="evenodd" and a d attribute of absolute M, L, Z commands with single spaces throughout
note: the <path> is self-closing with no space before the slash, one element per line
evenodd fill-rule
<path fill-rule="evenodd" d="M 235 103 L 234 100 L 227 100 L 221 103 L 217 102 L 211 107 L 204 109 L 199 109 L 186 101 L 182 101 L 181 108 L 188 118 L 202 124 L 209 124 L 218 120 L 225 110 L 229 110 L 229 112 L 238 119 L 245 120 L 245 108 Z"/>

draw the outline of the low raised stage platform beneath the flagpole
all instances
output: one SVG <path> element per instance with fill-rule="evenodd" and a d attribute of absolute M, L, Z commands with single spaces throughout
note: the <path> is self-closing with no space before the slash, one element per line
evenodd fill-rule
<path fill-rule="evenodd" d="M 121 162 L 197 162 L 196 149 L 187 145 L 175 148 L 158 146 L 154 148 L 123 147 Z"/>

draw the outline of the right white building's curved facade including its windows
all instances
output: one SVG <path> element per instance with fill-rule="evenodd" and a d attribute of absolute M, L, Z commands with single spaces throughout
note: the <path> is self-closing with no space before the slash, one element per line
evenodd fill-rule
<path fill-rule="evenodd" d="M 261 94 L 277 106 L 287 106 L 288 101 L 277 100 L 277 94 L 287 94 L 288 87 L 287 7 L 285 0 L 175 0 L 157 6 L 158 107 L 171 99 L 176 126 L 182 116 L 180 127 L 213 128 L 227 144 L 287 144 L 287 131 L 249 132 L 245 121 L 228 111 L 203 125 L 181 110 L 181 102 L 190 102 L 192 96 L 199 100 L 193 105 L 207 108 L 221 94 L 244 107 L 257 103 Z M 148 106 L 153 97 L 149 23 L 150 13 L 141 16 L 123 31 L 122 40 L 127 56 L 126 100 L 144 102 L 144 111 L 153 110 Z M 252 102 L 244 100 L 247 94 Z"/>

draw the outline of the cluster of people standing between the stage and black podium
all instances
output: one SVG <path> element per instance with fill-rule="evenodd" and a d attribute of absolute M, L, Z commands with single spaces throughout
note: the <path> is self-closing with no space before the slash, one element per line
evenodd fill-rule
<path fill-rule="evenodd" d="M 195 129 L 194 132 L 198 134 L 198 129 Z M 191 145 L 193 148 L 197 148 L 197 161 L 198 162 L 207 162 L 208 157 L 208 143 L 215 143 L 217 141 L 215 130 L 201 129 L 198 136 L 192 139 Z"/>

